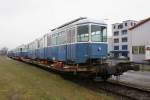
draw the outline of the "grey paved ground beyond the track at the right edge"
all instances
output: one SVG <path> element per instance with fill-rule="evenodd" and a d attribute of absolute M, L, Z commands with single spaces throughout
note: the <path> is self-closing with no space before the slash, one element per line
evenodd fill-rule
<path fill-rule="evenodd" d="M 150 72 L 148 71 L 128 71 L 119 78 L 113 76 L 110 80 L 117 79 L 119 82 L 150 89 Z"/>

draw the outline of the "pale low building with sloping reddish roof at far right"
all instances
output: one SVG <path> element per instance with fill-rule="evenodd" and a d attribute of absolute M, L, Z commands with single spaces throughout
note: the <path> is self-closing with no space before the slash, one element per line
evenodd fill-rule
<path fill-rule="evenodd" d="M 129 29 L 130 34 L 130 60 L 143 62 L 146 59 L 146 47 L 150 45 L 150 17 L 140 21 Z"/>

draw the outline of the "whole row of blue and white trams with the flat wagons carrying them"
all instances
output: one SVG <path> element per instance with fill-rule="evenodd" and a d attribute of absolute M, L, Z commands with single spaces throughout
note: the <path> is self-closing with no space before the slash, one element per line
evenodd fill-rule
<path fill-rule="evenodd" d="M 110 66 L 107 59 L 107 24 L 104 21 L 78 18 L 61 25 L 35 41 L 17 47 L 9 57 L 48 65 L 63 73 L 103 79 L 137 69 L 130 62 Z"/>

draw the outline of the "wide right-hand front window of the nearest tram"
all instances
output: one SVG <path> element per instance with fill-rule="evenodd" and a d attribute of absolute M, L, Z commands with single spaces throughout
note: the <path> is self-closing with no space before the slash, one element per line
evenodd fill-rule
<path fill-rule="evenodd" d="M 99 25 L 91 25 L 91 41 L 106 42 L 107 41 L 106 27 Z"/>

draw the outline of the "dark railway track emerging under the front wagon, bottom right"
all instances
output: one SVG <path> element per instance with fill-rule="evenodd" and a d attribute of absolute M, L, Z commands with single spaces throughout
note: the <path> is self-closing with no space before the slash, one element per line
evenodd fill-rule
<path fill-rule="evenodd" d="M 118 100 L 150 100 L 150 90 L 128 84 L 111 81 L 95 82 L 83 79 L 74 81 L 94 91 L 105 91 L 108 95 L 116 95 Z"/>

